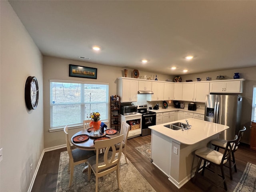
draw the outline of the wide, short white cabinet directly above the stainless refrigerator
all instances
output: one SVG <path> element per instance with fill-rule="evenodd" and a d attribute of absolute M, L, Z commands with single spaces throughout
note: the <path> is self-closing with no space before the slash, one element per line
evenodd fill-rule
<path fill-rule="evenodd" d="M 243 79 L 239 80 L 219 80 L 210 82 L 211 93 L 242 93 Z"/>

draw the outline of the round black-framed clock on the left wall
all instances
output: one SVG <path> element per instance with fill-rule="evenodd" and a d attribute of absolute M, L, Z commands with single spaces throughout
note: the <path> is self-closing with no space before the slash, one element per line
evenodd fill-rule
<path fill-rule="evenodd" d="M 36 109 L 38 95 L 39 91 L 36 77 L 28 76 L 25 84 L 25 102 L 28 109 Z"/>

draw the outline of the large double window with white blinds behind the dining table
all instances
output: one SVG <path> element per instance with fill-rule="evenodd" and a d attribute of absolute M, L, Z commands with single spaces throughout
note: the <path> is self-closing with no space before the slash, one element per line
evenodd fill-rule
<path fill-rule="evenodd" d="M 81 126 L 92 112 L 108 121 L 108 84 L 50 80 L 50 129 Z"/>

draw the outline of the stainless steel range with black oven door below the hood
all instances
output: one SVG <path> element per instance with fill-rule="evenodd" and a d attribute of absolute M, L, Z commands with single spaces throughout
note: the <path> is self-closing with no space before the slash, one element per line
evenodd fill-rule
<path fill-rule="evenodd" d="M 156 125 L 156 112 L 148 111 L 148 105 L 138 105 L 138 113 L 142 114 L 141 136 L 150 135 L 149 126 Z"/>

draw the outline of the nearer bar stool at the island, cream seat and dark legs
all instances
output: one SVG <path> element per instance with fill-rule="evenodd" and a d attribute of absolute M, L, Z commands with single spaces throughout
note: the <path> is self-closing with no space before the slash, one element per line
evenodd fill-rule
<path fill-rule="evenodd" d="M 214 174 L 215 174 L 215 178 L 212 179 L 212 180 L 215 180 L 216 182 L 218 182 L 218 176 L 221 176 L 222 177 L 222 182 L 221 183 L 224 184 L 224 189 L 228 190 L 227 185 L 226 185 L 226 179 L 225 179 L 225 176 L 224 176 L 223 166 L 226 162 L 229 162 L 229 164 L 231 164 L 231 162 L 230 162 L 231 150 L 229 150 L 229 149 L 234 148 L 234 145 L 235 145 L 235 142 L 236 142 L 237 139 L 238 139 L 238 137 L 236 135 L 234 140 L 227 141 L 226 148 L 225 148 L 223 154 L 216 151 L 216 150 L 208 148 L 208 147 L 203 147 L 203 148 L 200 148 L 200 149 L 196 150 L 195 154 L 199 158 L 199 162 L 198 162 L 198 165 L 197 165 L 197 168 L 196 168 L 196 173 L 195 173 L 195 176 L 193 178 L 193 181 L 194 182 L 196 181 L 196 177 L 198 176 L 198 172 L 201 169 L 202 169 L 202 176 L 204 176 L 204 170 L 208 169 L 211 172 L 214 172 Z M 204 160 L 204 164 L 200 168 L 202 160 Z M 211 165 L 213 165 L 214 170 L 211 170 L 210 168 L 206 167 L 206 162 L 209 162 Z M 220 167 L 221 175 L 218 174 L 218 167 Z M 216 185 L 216 182 L 212 182 L 212 180 L 209 180 L 209 179 L 206 179 L 206 180 L 208 180 L 208 182 Z M 219 186 L 219 185 L 217 185 L 217 186 Z"/>

